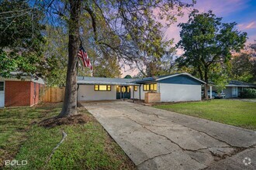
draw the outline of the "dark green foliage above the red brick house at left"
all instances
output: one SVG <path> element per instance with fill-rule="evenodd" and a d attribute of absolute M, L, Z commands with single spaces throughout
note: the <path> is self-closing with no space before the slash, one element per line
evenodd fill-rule
<path fill-rule="evenodd" d="M 8 77 L 12 71 L 37 76 L 45 72 L 41 14 L 24 1 L 4 0 L 0 3 L 1 76 Z"/>

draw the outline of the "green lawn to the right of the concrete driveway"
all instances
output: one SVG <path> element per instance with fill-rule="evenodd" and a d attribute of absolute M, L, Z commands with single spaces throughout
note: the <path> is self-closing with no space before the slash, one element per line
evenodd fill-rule
<path fill-rule="evenodd" d="M 156 108 L 201 117 L 223 124 L 256 130 L 256 103 L 240 100 L 207 100 L 177 104 L 162 104 Z"/>

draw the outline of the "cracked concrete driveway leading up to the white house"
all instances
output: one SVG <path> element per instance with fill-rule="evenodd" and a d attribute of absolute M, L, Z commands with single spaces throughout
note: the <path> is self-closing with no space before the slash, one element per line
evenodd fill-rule
<path fill-rule="evenodd" d="M 139 169 L 256 169 L 256 133 L 124 101 L 82 104 Z"/>

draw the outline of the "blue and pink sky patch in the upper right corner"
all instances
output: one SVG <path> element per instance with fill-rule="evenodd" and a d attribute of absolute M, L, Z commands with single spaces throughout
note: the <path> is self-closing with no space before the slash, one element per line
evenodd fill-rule
<path fill-rule="evenodd" d="M 248 33 L 247 42 L 256 39 L 256 0 L 198 0 L 195 8 L 223 17 L 223 22 L 237 22 L 237 29 Z"/>

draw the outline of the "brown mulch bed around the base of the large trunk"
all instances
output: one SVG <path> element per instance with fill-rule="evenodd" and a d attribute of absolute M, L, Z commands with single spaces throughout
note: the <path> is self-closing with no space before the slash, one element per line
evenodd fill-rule
<path fill-rule="evenodd" d="M 39 122 L 39 126 L 44 128 L 54 128 L 61 125 L 86 124 L 92 118 L 86 114 L 76 114 L 70 117 L 50 117 Z"/>

